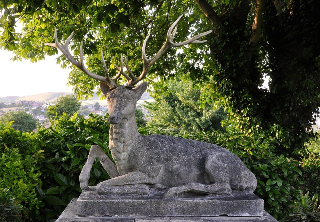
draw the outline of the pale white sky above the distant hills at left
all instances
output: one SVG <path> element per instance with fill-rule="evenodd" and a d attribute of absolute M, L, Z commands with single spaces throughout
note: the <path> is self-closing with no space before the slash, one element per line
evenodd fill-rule
<path fill-rule="evenodd" d="M 28 96 L 44 92 L 72 92 L 67 86 L 71 69 L 56 63 L 58 55 L 35 63 L 10 61 L 12 52 L 0 49 L 0 97 Z"/>

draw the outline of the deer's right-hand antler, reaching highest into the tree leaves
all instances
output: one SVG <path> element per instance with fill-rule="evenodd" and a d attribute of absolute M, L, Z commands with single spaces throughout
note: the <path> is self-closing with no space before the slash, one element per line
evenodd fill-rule
<path fill-rule="evenodd" d="M 149 69 L 151 68 L 151 66 L 153 64 L 156 63 L 157 60 L 159 60 L 161 58 L 161 56 L 169 49 L 169 48 L 172 48 L 172 47 L 179 47 L 179 46 L 183 46 L 183 45 L 188 45 L 188 44 L 196 44 L 196 43 L 205 43 L 207 40 L 203 40 L 203 41 L 197 41 L 197 39 L 201 38 L 202 36 L 206 36 L 208 34 L 210 34 L 212 32 L 212 30 L 210 31 L 207 31 L 207 32 L 204 32 L 204 33 L 201 33 L 199 35 L 196 35 L 184 42 L 181 42 L 181 43 L 175 43 L 173 42 L 173 39 L 174 39 L 174 36 L 177 32 L 177 24 L 179 22 L 179 20 L 182 18 L 183 15 L 181 15 L 173 24 L 172 26 L 169 28 L 168 30 L 168 34 L 167 34 L 167 39 L 164 43 L 164 45 L 161 47 L 161 49 L 159 50 L 159 52 L 156 53 L 156 55 L 154 57 L 152 57 L 151 59 L 148 59 L 147 58 L 147 55 L 146 55 L 146 46 L 147 46 L 147 41 L 148 41 L 148 38 L 150 37 L 150 34 L 147 36 L 147 38 L 144 40 L 143 42 L 143 46 L 142 46 L 142 60 L 143 60 L 143 71 L 141 73 L 141 75 L 139 77 L 135 77 L 131 71 L 131 69 L 129 68 L 128 66 L 128 63 L 127 63 L 127 58 L 125 58 L 125 67 L 127 68 L 127 71 L 129 72 L 129 75 L 126 75 L 123 71 L 121 72 L 124 77 L 128 80 L 128 84 L 127 86 L 133 88 L 135 84 L 139 83 L 142 79 L 144 79 L 147 74 L 148 74 L 148 71 Z M 175 27 L 175 28 L 174 28 Z M 173 30 L 174 28 L 174 30 Z M 173 32 L 172 32 L 173 30 Z M 115 66 L 116 67 L 116 66 Z M 119 72 L 120 72 L 120 69 L 118 67 L 116 67 Z"/>

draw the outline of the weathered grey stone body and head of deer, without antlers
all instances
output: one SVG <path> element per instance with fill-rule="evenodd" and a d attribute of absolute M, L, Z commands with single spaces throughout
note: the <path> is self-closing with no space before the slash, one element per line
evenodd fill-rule
<path fill-rule="evenodd" d="M 135 120 L 135 107 L 148 83 L 134 89 L 118 86 L 103 89 L 108 99 L 110 125 L 109 148 L 116 166 L 108 161 L 98 146 L 93 146 L 81 175 L 81 187 L 88 189 L 92 163 L 105 164 L 111 179 L 97 185 L 100 195 L 118 194 L 112 186 L 148 184 L 165 190 L 166 196 L 184 193 L 231 194 L 252 190 L 257 179 L 229 150 L 200 141 L 163 135 L 142 136 Z M 99 153 L 98 155 L 95 153 Z M 119 176 L 114 172 L 118 172 Z M 128 190 L 128 189 L 127 189 Z M 132 194 L 135 190 L 132 189 Z M 127 192 L 124 194 L 128 194 Z"/>

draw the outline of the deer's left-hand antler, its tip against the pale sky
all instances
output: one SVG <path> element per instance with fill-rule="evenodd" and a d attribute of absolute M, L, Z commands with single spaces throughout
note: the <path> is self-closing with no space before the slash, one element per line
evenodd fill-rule
<path fill-rule="evenodd" d="M 123 74 L 123 71 L 119 71 L 119 73 L 114 77 L 114 78 L 110 78 L 108 70 L 107 70 L 107 66 L 106 66 L 106 62 L 104 60 L 103 57 L 103 52 L 101 50 L 101 57 L 102 57 L 102 63 L 103 63 L 103 68 L 104 68 L 104 72 L 106 74 L 106 77 L 100 76 L 100 75 L 96 75 L 93 74 L 92 72 L 90 72 L 84 65 L 84 61 L 83 61 L 83 42 L 81 42 L 80 45 L 80 62 L 76 61 L 76 59 L 74 59 L 69 51 L 69 42 L 73 36 L 74 32 L 71 33 L 71 35 L 68 37 L 68 39 L 66 40 L 64 45 L 61 45 L 59 43 L 58 40 L 58 35 L 57 35 L 57 28 L 54 29 L 54 41 L 55 43 L 45 43 L 45 45 L 54 47 L 59 49 L 62 54 L 76 67 L 78 67 L 81 71 L 83 71 L 86 75 L 89 75 L 90 77 L 92 77 L 95 80 L 98 80 L 102 83 L 106 83 L 109 88 L 112 90 L 114 88 L 117 87 L 117 80 L 118 78 L 121 76 L 121 74 Z M 119 68 L 118 68 L 119 69 Z M 120 70 L 120 69 L 119 69 Z M 121 70 L 123 70 L 123 58 L 121 55 Z"/>

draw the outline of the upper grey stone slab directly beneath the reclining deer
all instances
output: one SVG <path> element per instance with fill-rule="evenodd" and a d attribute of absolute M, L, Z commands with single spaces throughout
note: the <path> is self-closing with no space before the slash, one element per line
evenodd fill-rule
<path fill-rule="evenodd" d="M 77 200 L 80 216 L 112 217 L 192 217 L 192 216 L 262 216 L 263 200 L 252 191 L 234 191 L 231 195 L 191 197 L 164 196 L 150 189 L 150 195 L 99 195 L 83 191 Z M 153 192 L 154 191 L 154 192 Z"/>

